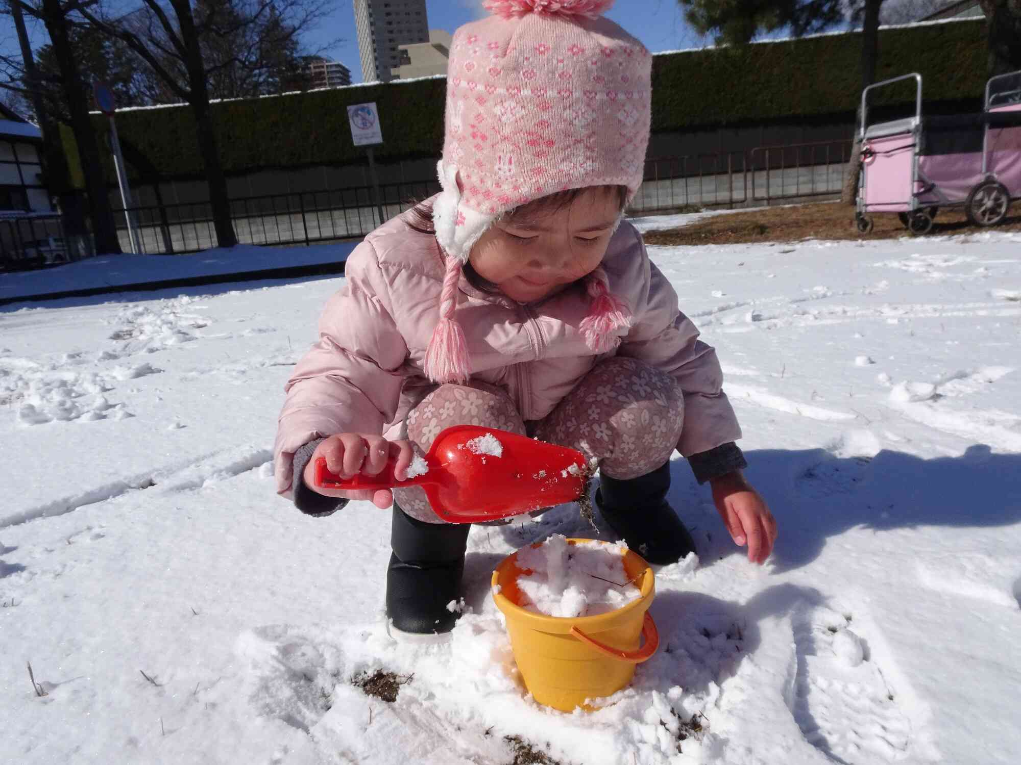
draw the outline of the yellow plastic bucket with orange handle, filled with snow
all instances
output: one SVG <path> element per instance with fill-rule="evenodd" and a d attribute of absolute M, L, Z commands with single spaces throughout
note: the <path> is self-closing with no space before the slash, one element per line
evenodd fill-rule
<path fill-rule="evenodd" d="M 568 540 L 569 545 L 593 542 Z M 524 597 L 518 576 L 528 569 L 518 567 L 518 553 L 504 558 L 493 571 L 493 600 L 506 617 L 515 661 L 526 687 L 540 704 L 564 712 L 575 707 L 591 711 L 586 699 L 620 691 L 631 682 L 635 665 L 655 653 L 660 635 L 648 613 L 655 595 L 654 573 L 630 550 L 624 556 L 624 570 L 641 597 L 616 611 L 576 618 L 537 614 L 520 605 Z M 639 648 L 642 635 L 645 642 Z"/>

